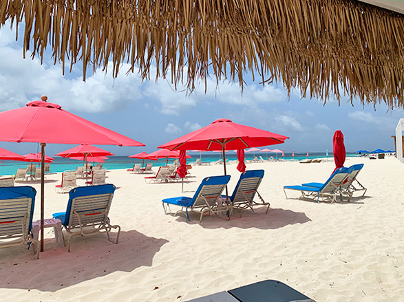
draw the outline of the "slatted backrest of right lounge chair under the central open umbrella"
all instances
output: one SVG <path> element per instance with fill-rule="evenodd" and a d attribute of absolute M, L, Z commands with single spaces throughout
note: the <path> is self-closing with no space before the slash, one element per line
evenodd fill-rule
<path fill-rule="evenodd" d="M 230 197 L 231 202 L 237 204 L 239 202 L 245 203 L 246 200 L 253 201 L 262 177 L 264 177 L 264 170 L 250 170 L 242 173 L 234 188 L 233 195 Z"/>

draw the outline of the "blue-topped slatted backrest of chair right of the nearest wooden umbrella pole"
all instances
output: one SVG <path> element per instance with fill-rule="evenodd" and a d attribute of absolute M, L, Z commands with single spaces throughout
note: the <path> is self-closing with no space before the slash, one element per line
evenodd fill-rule
<path fill-rule="evenodd" d="M 115 186 L 79 186 L 69 192 L 65 221 L 67 228 L 105 224 L 114 196 Z"/>

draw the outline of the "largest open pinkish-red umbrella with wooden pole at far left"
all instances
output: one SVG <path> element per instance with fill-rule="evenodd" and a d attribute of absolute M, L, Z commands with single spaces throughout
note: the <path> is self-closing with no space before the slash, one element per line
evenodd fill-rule
<path fill-rule="evenodd" d="M 0 129 L 7 129 L 0 132 L 0 141 L 39 142 L 43 155 L 45 155 L 46 144 L 145 146 L 136 140 L 75 116 L 59 105 L 47 103 L 47 96 L 42 96 L 41 99 L 28 103 L 26 107 L 0 113 Z M 44 156 L 41 162 L 41 251 L 43 251 Z"/>

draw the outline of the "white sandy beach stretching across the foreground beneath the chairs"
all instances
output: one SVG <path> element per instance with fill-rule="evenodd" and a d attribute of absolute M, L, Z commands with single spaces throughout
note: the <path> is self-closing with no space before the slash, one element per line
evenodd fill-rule
<path fill-rule="evenodd" d="M 284 185 L 325 181 L 333 162 L 247 164 L 265 169 L 259 192 L 270 202 L 268 215 L 262 207 L 230 221 L 206 216 L 202 224 L 196 216 L 187 223 L 165 215 L 161 200 L 192 196 L 202 178 L 222 175 L 222 165 L 193 166 L 184 193 L 181 183 L 146 184 L 145 175 L 109 171 L 107 182 L 117 187 L 109 217 L 122 228 L 119 243 L 104 234 L 76 237 L 67 252 L 45 228 L 37 261 L 23 246 L 2 248 L 1 301 L 187 301 L 265 279 L 316 301 L 403 301 L 404 165 L 350 158 L 345 166 L 359 162 L 368 192 L 349 204 L 284 195 Z M 232 192 L 240 173 L 235 164 L 227 167 Z M 47 176 L 47 218 L 65 211 L 68 195 L 54 191 L 60 181 L 60 173 Z M 39 183 L 32 186 L 40 191 Z"/>

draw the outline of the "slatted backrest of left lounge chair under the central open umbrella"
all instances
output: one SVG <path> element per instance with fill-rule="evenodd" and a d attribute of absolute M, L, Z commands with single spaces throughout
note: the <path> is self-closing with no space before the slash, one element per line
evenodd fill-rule
<path fill-rule="evenodd" d="M 230 175 L 211 176 L 204 178 L 189 204 L 192 206 L 192 208 L 202 208 L 206 206 L 206 202 L 209 204 L 209 206 L 213 206 L 222 194 L 224 187 L 229 180 Z"/>

